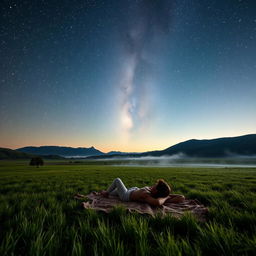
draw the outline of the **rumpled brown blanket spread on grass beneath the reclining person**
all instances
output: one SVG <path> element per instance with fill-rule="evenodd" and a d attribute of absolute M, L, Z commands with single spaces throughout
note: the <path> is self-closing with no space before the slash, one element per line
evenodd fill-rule
<path fill-rule="evenodd" d="M 205 221 L 208 209 L 197 200 L 185 199 L 182 203 L 172 203 L 171 196 L 165 203 L 158 207 L 150 206 L 147 203 L 141 202 L 122 202 L 117 196 L 103 197 L 98 192 L 91 192 L 89 195 L 75 196 L 76 199 L 86 198 L 88 201 L 82 203 L 82 207 L 85 209 L 94 209 L 109 213 L 116 206 L 122 206 L 127 209 L 128 212 L 138 212 L 140 214 L 149 214 L 154 216 L 156 214 L 171 214 L 173 217 L 181 218 L 185 213 L 190 212 L 199 221 Z"/>

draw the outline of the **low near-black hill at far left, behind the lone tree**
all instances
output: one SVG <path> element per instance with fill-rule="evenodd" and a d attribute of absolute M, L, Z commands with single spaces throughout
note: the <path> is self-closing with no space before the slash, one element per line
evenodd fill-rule
<path fill-rule="evenodd" d="M 9 148 L 0 148 L 0 160 L 15 160 L 15 159 L 31 159 L 35 157 L 34 154 L 27 154 L 24 152 L 19 152 L 17 150 L 9 149 Z M 62 159 L 60 156 L 56 155 L 45 155 L 45 159 Z"/>

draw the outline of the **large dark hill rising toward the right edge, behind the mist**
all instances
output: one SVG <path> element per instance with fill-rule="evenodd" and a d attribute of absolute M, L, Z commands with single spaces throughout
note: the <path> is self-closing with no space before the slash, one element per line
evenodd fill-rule
<path fill-rule="evenodd" d="M 183 153 L 187 157 L 256 156 L 256 134 L 211 140 L 187 140 L 164 150 L 145 153 L 109 154 L 91 158 L 171 156 Z"/>

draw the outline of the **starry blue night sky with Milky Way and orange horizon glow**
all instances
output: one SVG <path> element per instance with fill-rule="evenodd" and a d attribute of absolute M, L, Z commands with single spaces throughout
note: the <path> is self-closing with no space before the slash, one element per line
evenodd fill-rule
<path fill-rule="evenodd" d="M 3 0 L 0 17 L 0 147 L 256 131 L 255 0 Z"/>

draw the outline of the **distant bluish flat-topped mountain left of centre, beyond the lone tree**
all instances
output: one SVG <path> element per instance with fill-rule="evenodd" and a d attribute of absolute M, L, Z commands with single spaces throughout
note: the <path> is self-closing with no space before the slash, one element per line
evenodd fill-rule
<path fill-rule="evenodd" d="M 104 153 L 90 148 L 72 148 L 72 147 L 59 147 L 59 146 L 41 146 L 41 147 L 24 147 L 17 149 L 20 152 L 35 154 L 35 155 L 59 155 L 64 157 L 87 157 L 99 156 Z"/>

